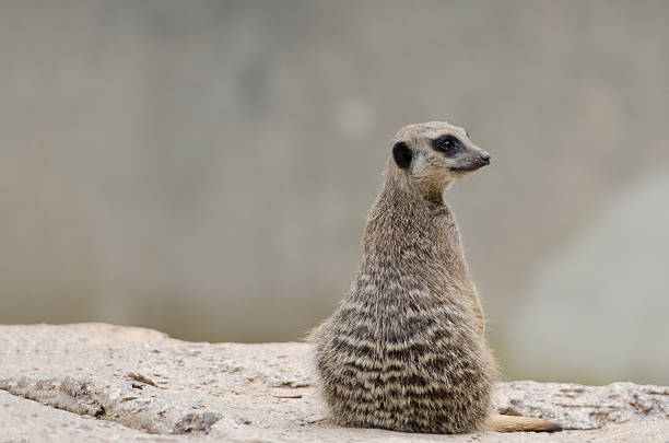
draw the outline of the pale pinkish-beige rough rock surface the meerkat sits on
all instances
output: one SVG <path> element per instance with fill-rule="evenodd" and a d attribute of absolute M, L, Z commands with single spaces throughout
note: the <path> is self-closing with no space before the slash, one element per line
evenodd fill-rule
<path fill-rule="evenodd" d="M 191 343 L 104 324 L 0 326 L 0 442 L 669 442 L 669 387 L 513 382 L 504 413 L 554 434 L 331 425 L 306 343 Z M 34 400 L 34 401 L 31 401 Z"/>

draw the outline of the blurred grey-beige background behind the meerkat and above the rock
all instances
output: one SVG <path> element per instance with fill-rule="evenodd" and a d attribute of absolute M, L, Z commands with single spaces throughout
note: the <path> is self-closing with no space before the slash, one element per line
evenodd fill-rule
<path fill-rule="evenodd" d="M 669 384 L 669 2 L 3 1 L 0 323 L 296 340 L 394 132 L 449 196 L 507 378 Z"/>

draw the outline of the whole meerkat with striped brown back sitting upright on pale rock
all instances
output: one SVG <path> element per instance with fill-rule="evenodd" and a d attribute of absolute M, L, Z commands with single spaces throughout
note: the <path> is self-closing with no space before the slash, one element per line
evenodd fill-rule
<path fill-rule="evenodd" d="M 357 275 L 309 337 L 336 423 L 424 433 L 561 430 L 493 411 L 496 364 L 444 202 L 456 179 L 489 163 L 488 152 L 447 123 L 410 125 L 395 136 Z"/>

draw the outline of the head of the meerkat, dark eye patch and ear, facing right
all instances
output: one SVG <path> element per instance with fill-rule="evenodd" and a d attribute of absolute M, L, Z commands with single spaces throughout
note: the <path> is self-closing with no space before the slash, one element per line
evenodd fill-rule
<path fill-rule="evenodd" d="M 406 126 L 394 142 L 391 167 L 430 200 L 441 200 L 456 178 L 490 164 L 490 154 L 472 143 L 465 129 L 447 123 Z"/>

